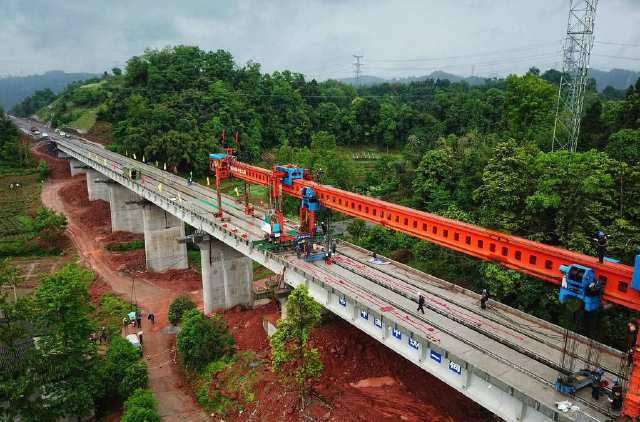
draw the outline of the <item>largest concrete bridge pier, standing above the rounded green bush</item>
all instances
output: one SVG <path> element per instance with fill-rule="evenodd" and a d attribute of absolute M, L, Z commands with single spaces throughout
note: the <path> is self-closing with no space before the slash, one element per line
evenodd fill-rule
<path fill-rule="evenodd" d="M 253 305 L 251 258 L 218 240 L 198 243 L 202 264 L 202 298 L 206 314 L 236 305 Z"/>

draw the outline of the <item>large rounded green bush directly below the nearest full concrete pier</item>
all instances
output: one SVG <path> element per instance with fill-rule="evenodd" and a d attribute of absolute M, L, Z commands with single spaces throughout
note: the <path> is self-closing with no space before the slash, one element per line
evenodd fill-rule
<path fill-rule="evenodd" d="M 176 348 L 186 369 L 200 371 L 209 362 L 233 353 L 233 337 L 222 316 L 207 318 L 197 309 L 190 309 L 183 315 Z"/>

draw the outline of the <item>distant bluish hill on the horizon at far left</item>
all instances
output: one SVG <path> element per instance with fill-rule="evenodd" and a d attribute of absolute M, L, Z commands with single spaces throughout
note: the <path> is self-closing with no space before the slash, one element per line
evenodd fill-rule
<path fill-rule="evenodd" d="M 42 75 L 9 76 L 0 79 L 0 105 L 11 110 L 14 105 L 38 90 L 49 88 L 59 93 L 71 82 L 90 79 L 96 75 L 91 73 L 66 73 L 52 70 Z"/>

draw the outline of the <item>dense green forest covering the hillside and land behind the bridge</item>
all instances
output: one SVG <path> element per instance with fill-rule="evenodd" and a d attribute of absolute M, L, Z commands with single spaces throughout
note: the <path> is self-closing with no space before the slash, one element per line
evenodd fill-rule
<path fill-rule="evenodd" d="M 640 246 L 640 80 L 600 93 L 591 81 L 579 151 L 569 154 L 551 152 L 560 77 L 531 68 L 474 87 L 441 80 L 354 87 L 176 46 L 70 86 L 46 108 L 54 125 L 76 119 L 78 105 L 95 110 L 111 124 L 109 148 L 180 172 L 206 175 L 223 131 L 227 143 L 237 132 L 242 160 L 295 162 L 320 172 L 323 183 L 590 255 L 602 230 L 607 255 L 631 264 Z M 353 152 L 363 148 L 380 154 L 357 173 Z M 362 222 L 349 234 L 534 315 L 576 320 L 575 306 L 560 306 L 547 283 Z M 629 316 L 600 312 L 595 334 L 626 347 L 619 342 Z"/>

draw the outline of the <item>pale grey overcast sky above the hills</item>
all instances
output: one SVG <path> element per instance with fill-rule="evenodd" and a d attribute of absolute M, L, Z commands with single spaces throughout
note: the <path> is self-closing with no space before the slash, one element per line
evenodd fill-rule
<path fill-rule="evenodd" d="M 176 44 L 320 79 L 351 76 L 352 54 L 364 56 L 364 74 L 382 77 L 498 76 L 559 67 L 568 8 L 569 0 L 0 0 L 0 76 L 102 72 Z M 640 69 L 639 22 L 640 0 L 601 0 L 592 67 Z"/>

